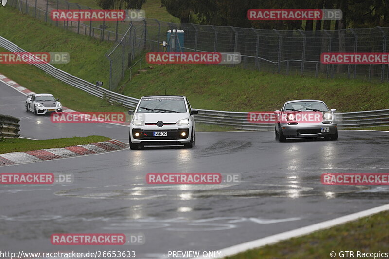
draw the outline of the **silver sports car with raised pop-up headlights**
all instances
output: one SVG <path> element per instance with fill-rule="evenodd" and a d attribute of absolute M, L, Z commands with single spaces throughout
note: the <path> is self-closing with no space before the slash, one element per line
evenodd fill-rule
<path fill-rule="evenodd" d="M 337 140 L 336 109 L 329 110 L 320 100 L 293 100 L 283 104 L 275 124 L 275 138 L 320 138 Z"/>

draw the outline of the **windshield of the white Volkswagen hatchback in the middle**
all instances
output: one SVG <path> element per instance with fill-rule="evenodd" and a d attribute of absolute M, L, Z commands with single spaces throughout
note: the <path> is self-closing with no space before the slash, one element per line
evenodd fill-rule
<path fill-rule="evenodd" d="M 184 98 L 153 97 L 143 98 L 137 113 L 186 112 Z"/>

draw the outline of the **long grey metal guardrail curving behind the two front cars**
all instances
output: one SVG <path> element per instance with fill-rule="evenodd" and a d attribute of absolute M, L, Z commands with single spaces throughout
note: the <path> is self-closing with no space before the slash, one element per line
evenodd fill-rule
<path fill-rule="evenodd" d="M 11 52 L 26 52 L 19 48 L 14 43 L 0 36 L 0 46 Z M 99 98 L 108 98 L 109 102 L 120 102 L 124 107 L 135 107 L 139 99 L 125 96 L 119 93 L 109 91 L 105 88 L 95 86 L 83 79 L 75 77 L 69 73 L 57 69 L 50 64 L 33 64 L 42 69 L 53 77 L 79 88 L 89 94 Z M 232 126 L 241 130 L 272 130 L 274 124 L 269 123 L 251 123 L 248 122 L 247 112 L 230 112 L 230 111 L 215 111 L 199 109 L 195 115 L 197 122 L 207 124 L 216 124 L 222 126 Z M 389 109 L 377 111 L 360 111 L 360 112 L 345 112 L 336 113 L 339 121 L 339 128 L 357 128 L 368 126 L 384 126 L 389 125 Z"/>

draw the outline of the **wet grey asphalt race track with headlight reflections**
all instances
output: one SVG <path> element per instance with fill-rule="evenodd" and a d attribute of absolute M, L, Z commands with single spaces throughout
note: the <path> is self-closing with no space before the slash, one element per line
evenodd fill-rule
<path fill-rule="evenodd" d="M 24 137 L 99 134 L 128 142 L 123 126 L 52 124 L 23 108 L 24 96 L 0 83 L 0 113 L 24 116 Z M 340 131 L 338 141 L 287 143 L 273 132 L 197 134 L 194 149 L 146 147 L 0 167 L 75 176 L 72 185 L 1 186 L 0 250 L 133 250 L 136 258 L 166 258 L 172 250 L 218 250 L 388 203 L 387 186 L 320 183 L 321 173 L 389 173 L 388 133 Z M 239 173 L 242 181 L 146 184 L 146 173 L 158 172 Z M 143 245 L 50 244 L 52 233 L 139 232 Z"/>

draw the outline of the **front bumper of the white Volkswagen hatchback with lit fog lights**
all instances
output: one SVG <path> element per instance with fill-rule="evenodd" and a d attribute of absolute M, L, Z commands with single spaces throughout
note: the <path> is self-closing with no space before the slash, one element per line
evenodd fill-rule
<path fill-rule="evenodd" d="M 166 132 L 167 136 L 154 136 L 154 132 Z M 139 135 L 136 136 L 138 133 Z M 185 133 L 185 136 L 182 136 Z M 191 140 L 191 129 L 188 127 L 166 129 L 134 127 L 130 129 L 132 143 L 143 145 L 183 145 Z"/>

